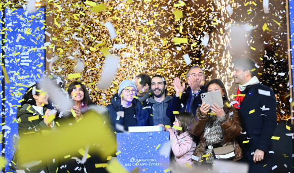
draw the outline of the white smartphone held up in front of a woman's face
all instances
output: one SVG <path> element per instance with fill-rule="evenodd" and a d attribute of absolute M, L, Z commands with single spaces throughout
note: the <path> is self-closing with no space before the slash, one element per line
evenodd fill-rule
<path fill-rule="evenodd" d="M 217 104 L 217 106 L 219 106 L 220 108 L 224 107 L 222 93 L 220 93 L 220 91 L 202 93 L 200 96 L 202 103 L 205 102 L 206 105 Z M 209 109 L 211 109 L 211 106 L 209 107 Z"/>

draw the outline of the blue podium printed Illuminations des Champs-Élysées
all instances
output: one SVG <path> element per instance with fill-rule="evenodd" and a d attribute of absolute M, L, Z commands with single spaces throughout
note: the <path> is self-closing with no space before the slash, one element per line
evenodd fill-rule
<path fill-rule="evenodd" d="M 160 151 L 168 142 L 168 132 L 118 133 L 117 160 L 128 171 L 164 172 L 169 168 L 169 155 Z"/>

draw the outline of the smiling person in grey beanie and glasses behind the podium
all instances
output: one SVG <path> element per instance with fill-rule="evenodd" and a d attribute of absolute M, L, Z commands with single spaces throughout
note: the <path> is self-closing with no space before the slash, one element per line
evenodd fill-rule
<path fill-rule="evenodd" d="M 119 91 L 111 100 L 111 105 L 106 108 L 109 111 L 109 121 L 115 132 L 128 131 L 129 126 L 149 125 L 149 113 L 142 108 L 142 104 L 136 98 L 136 85 L 131 80 L 123 80 L 119 85 Z M 117 113 L 123 111 L 124 113 Z M 124 129 L 117 129 L 116 124 L 124 126 Z"/>

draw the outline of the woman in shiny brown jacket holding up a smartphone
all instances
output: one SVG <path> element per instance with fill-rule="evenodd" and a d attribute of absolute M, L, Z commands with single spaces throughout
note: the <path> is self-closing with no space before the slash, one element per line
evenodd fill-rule
<path fill-rule="evenodd" d="M 189 132 L 194 136 L 200 137 L 194 155 L 201 162 L 210 166 L 213 163 L 213 149 L 233 144 L 236 161 L 242 158 L 242 152 L 235 138 L 240 136 L 242 127 L 238 116 L 238 111 L 234 106 L 229 106 L 229 99 L 224 83 L 219 79 L 212 79 L 206 84 L 205 93 L 220 91 L 223 97 L 223 108 L 218 105 L 202 103 L 198 107 L 189 126 Z M 211 109 L 209 109 L 211 107 Z M 206 157 L 202 157 L 206 155 Z M 201 161 L 202 160 L 202 161 Z"/>

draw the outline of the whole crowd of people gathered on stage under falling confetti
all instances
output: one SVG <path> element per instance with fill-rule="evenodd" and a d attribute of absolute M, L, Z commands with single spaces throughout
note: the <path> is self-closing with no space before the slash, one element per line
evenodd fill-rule
<path fill-rule="evenodd" d="M 248 163 L 249 172 L 271 172 L 274 165 L 270 152 L 273 151 L 271 137 L 277 124 L 275 95 L 256 77 L 252 59 L 235 60 L 232 76 L 239 88 L 237 97 L 230 103 L 223 81 L 212 79 L 205 84 L 205 72 L 197 65 L 187 71 L 188 87 L 186 82 L 174 78 L 173 97 L 167 93 L 167 82 L 163 76 L 157 74 L 151 78 L 147 74 L 139 74 L 134 80 L 126 79 L 119 84 L 118 93 L 106 106 L 106 116 L 116 133 L 127 132 L 130 126 L 162 126 L 163 131 L 170 134 L 171 160 L 176 167 L 189 164 L 195 169 L 204 167 L 207 170 L 215 159 L 226 159 Z M 64 89 L 61 76 L 54 75 L 52 80 Z M 202 103 L 201 94 L 214 91 L 220 91 L 223 105 Z M 40 128 L 50 130 L 56 127 L 56 122 L 75 122 L 84 118 L 89 105 L 94 104 L 85 85 L 74 81 L 69 84 L 67 93 L 74 102 L 72 110 L 75 115 L 69 112 L 59 117 L 57 110 L 56 119 L 49 122 L 48 113 L 55 109 L 54 104 L 50 103 L 50 98 L 38 83 L 27 89 L 17 112 L 17 118 L 21 119 L 18 124 L 19 145 L 24 133 Z M 39 119 L 29 121 L 29 117 L 35 115 L 39 115 Z M 172 125 L 181 127 L 181 131 Z M 220 158 L 217 153 L 220 147 L 231 147 L 233 155 Z M 97 157 L 95 161 L 103 163 L 106 159 Z M 93 165 L 81 165 L 72 159 L 60 159 L 55 163 L 43 161 L 29 170 L 56 172 L 57 167 L 59 172 L 105 171 L 98 171 Z M 18 169 L 26 167 L 18 164 Z"/>

